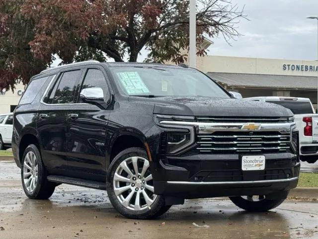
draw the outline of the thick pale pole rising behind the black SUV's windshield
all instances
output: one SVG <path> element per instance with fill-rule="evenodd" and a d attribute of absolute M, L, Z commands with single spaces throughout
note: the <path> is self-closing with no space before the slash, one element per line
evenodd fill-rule
<path fill-rule="evenodd" d="M 196 68 L 196 0 L 190 0 L 190 34 L 189 34 L 189 63 L 190 67 Z"/>

